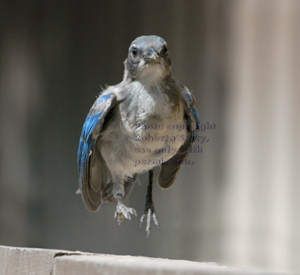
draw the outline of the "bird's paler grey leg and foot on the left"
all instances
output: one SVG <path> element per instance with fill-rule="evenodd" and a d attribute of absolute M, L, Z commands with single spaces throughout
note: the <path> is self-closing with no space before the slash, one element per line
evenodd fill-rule
<path fill-rule="evenodd" d="M 130 219 L 130 214 L 136 215 L 136 210 L 129 208 L 122 203 L 122 197 L 124 196 L 124 184 L 120 181 L 114 181 L 114 196 L 116 197 L 118 204 L 115 212 L 115 218 L 118 217 L 118 223 L 120 224 L 124 218 Z"/>

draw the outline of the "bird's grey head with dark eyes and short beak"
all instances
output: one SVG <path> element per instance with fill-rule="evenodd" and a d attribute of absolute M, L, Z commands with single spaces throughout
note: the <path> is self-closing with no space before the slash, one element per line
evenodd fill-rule
<path fill-rule="evenodd" d="M 125 78 L 155 82 L 171 74 L 171 58 L 160 36 L 140 36 L 133 40 L 125 60 Z"/>

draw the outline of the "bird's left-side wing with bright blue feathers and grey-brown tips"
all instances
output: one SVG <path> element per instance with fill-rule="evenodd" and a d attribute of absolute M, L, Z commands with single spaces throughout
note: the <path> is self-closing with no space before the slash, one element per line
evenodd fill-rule
<path fill-rule="evenodd" d="M 100 152 L 95 150 L 95 144 L 105 117 L 115 104 L 115 94 L 104 93 L 97 98 L 81 132 L 77 154 L 79 187 L 85 206 L 90 211 L 96 211 L 100 207 L 101 192 L 109 179 L 109 170 Z"/>

